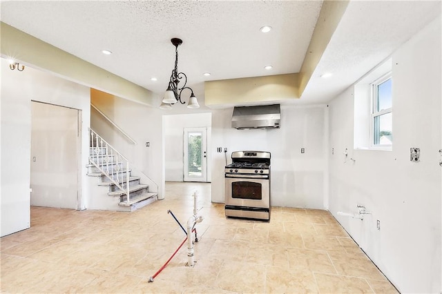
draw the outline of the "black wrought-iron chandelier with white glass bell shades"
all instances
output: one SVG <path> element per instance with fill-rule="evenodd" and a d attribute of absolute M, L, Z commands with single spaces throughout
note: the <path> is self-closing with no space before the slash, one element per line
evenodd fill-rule
<path fill-rule="evenodd" d="M 169 81 L 169 86 L 167 87 L 166 92 L 164 93 L 164 98 L 162 100 L 162 104 L 160 108 L 169 109 L 173 104 L 178 101 L 180 104 L 185 104 L 185 101 L 182 101 L 181 94 L 184 89 L 191 90 L 191 96 L 189 98 L 189 104 L 187 104 L 187 108 L 199 108 L 198 100 L 193 94 L 193 90 L 190 87 L 187 87 L 187 77 L 184 72 L 178 72 L 178 46 L 182 44 L 182 39 L 173 38 L 171 39 L 173 46 L 175 46 L 175 68 L 172 70 L 171 80 Z M 178 86 L 180 81 L 184 82 L 182 87 Z"/>

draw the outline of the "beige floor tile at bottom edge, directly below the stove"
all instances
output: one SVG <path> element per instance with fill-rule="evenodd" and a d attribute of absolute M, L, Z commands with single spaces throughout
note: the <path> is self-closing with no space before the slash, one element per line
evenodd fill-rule
<path fill-rule="evenodd" d="M 238 293 L 263 293 L 265 290 L 265 266 L 225 260 L 215 286 Z M 232 278 L 233 275 L 235 278 Z"/>

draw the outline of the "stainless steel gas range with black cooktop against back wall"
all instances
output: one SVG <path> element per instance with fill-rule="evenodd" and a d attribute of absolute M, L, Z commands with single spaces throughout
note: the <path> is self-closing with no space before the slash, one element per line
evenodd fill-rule
<path fill-rule="evenodd" d="M 235 151 L 224 169 L 227 217 L 270 220 L 270 153 Z"/>

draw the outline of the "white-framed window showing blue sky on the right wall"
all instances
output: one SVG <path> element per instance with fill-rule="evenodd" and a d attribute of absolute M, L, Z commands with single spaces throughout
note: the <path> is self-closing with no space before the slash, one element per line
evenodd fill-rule
<path fill-rule="evenodd" d="M 372 84 L 373 147 L 392 146 L 392 75 L 381 77 Z"/>

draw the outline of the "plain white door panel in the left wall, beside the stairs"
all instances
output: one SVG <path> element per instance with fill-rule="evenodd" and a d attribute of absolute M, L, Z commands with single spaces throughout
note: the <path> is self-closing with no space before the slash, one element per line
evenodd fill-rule
<path fill-rule="evenodd" d="M 77 209 L 79 110 L 32 101 L 30 204 Z"/>

